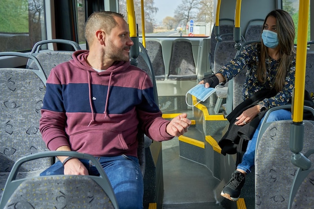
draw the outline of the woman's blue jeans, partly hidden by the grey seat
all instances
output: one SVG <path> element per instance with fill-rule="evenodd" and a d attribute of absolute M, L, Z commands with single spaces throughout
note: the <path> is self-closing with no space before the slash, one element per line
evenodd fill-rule
<path fill-rule="evenodd" d="M 266 122 L 272 122 L 277 120 L 290 120 L 291 119 L 291 112 L 288 110 L 275 110 L 271 112 L 267 118 Z M 244 170 L 246 173 L 251 172 L 251 168 L 254 165 L 254 157 L 255 157 L 255 149 L 256 149 L 256 142 L 257 136 L 259 133 L 260 126 L 263 122 L 264 118 L 261 119 L 261 122 L 256 128 L 256 131 L 252 137 L 252 139 L 248 142 L 246 151 L 242 157 L 242 161 L 238 164 L 237 169 Z"/>

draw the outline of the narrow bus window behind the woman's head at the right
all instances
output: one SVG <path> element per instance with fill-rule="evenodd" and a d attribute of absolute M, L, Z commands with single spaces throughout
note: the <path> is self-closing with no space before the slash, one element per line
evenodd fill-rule
<path fill-rule="evenodd" d="M 282 10 L 287 11 L 293 19 L 294 26 L 295 26 L 294 44 L 296 44 L 297 23 L 298 23 L 298 17 L 299 17 L 299 1 L 293 1 L 293 0 L 282 1 Z M 308 16 L 307 41 L 310 41 L 310 15 Z"/>

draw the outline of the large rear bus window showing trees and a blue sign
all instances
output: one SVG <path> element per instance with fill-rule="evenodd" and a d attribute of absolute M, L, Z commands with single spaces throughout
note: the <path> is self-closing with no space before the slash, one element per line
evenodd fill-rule
<path fill-rule="evenodd" d="M 138 33 L 141 37 L 141 0 L 134 0 Z M 145 36 L 209 37 L 214 25 L 214 1 L 144 1 Z M 119 12 L 126 15 L 126 1 L 119 1 Z"/>

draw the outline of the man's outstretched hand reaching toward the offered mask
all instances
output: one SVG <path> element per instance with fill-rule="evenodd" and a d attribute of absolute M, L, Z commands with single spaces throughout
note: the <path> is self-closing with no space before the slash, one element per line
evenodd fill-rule
<path fill-rule="evenodd" d="M 191 120 L 189 120 L 187 116 L 187 113 L 183 113 L 172 119 L 167 125 L 167 133 L 172 136 L 180 136 L 187 132 L 191 125 Z"/>

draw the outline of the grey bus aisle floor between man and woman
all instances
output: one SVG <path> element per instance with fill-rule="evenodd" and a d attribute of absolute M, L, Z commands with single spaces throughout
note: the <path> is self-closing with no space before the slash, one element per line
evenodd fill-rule
<path fill-rule="evenodd" d="M 224 208 L 214 192 L 219 180 L 204 165 L 180 157 L 177 137 L 163 142 L 163 173 L 164 209 Z"/>

